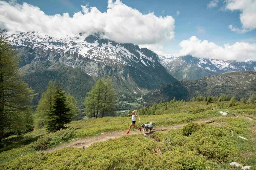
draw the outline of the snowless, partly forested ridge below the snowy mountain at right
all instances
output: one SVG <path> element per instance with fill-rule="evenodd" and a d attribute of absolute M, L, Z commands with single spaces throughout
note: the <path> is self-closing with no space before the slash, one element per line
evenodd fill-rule
<path fill-rule="evenodd" d="M 182 80 L 166 84 L 143 96 L 151 105 L 176 99 L 190 100 L 192 97 L 235 95 L 237 99 L 249 98 L 256 91 L 256 71 L 243 71 L 209 75 L 198 80 Z"/>

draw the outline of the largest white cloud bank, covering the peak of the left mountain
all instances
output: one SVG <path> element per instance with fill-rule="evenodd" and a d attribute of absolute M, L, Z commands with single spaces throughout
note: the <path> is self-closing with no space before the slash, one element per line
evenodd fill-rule
<path fill-rule="evenodd" d="M 106 12 L 96 7 L 81 6 L 82 12 L 46 15 L 28 3 L 0 1 L 0 26 L 9 34 L 16 31 L 38 31 L 56 37 L 83 33 L 100 34 L 104 38 L 134 44 L 156 44 L 174 38 L 172 16 L 142 14 L 120 0 L 108 1 Z"/>

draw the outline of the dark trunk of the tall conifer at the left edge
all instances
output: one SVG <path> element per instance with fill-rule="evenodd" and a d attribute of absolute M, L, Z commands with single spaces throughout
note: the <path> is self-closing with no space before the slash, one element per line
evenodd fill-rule
<path fill-rule="evenodd" d="M 3 74 L 2 74 L 2 59 L 0 53 L 0 142 L 3 138 L 3 126 L 4 126 L 4 87 L 3 87 Z"/>

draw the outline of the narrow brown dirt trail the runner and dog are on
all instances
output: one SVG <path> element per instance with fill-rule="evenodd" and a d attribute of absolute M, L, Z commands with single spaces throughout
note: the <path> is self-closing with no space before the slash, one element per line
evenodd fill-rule
<path fill-rule="evenodd" d="M 206 122 L 209 122 L 209 121 L 213 121 L 215 119 L 226 119 L 226 118 L 230 118 L 230 117 L 219 116 L 219 117 L 215 117 L 215 118 L 202 119 L 202 120 L 199 120 L 199 121 L 191 121 L 189 123 L 199 123 L 200 124 L 200 123 L 206 123 Z M 245 117 L 240 117 L 240 118 L 245 119 Z M 178 128 L 181 128 L 183 126 L 186 126 L 187 124 L 188 123 L 183 123 L 183 124 L 173 125 L 173 126 L 167 126 L 167 127 L 156 127 L 156 128 L 153 128 L 153 130 L 150 133 L 145 131 L 144 136 L 148 136 L 151 133 L 154 133 L 156 131 L 167 131 L 167 130 L 170 130 L 170 129 L 178 129 Z M 52 148 L 50 150 L 47 150 L 47 151 L 45 151 L 45 153 L 61 150 L 62 148 L 71 147 L 71 146 L 75 147 L 75 148 L 87 148 L 88 146 L 90 146 L 91 144 L 93 144 L 95 142 L 105 141 L 105 140 L 108 140 L 108 139 L 115 139 L 115 138 L 121 137 L 123 135 L 126 135 L 125 132 L 126 132 L 126 130 L 106 132 L 106 133 L 101 133 L 100 136 L 95 136 L 95 137 L 86 138 L 86 139 L 78 139 L 78 140 L 76 140 L 74 142 L 71 142 L 69 144 L 63 144 L 63 145 L 58 146 L 56 148 Z M 143 130 L 141 130 L 141 132 L 139 130 L 130 131 L 129 134 L 142 134 L 143 135 Z"/>

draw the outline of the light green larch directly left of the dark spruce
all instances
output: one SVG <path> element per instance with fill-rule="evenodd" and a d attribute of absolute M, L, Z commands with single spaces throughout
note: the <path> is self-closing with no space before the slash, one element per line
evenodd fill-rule
<path fill-rule="evenodd" d="M 55 87 L 52 81 L 49 81 L 47 90 L 42 94 L 41 99 L 38 101 L 35 112 L 35 127 L 43 128 L 45 127 L 46 117 L 48 112 L 51 110 L 53 105 L 53 95 L 55 93 Z"/>

